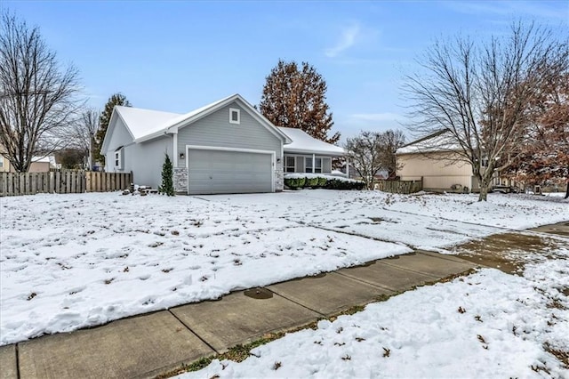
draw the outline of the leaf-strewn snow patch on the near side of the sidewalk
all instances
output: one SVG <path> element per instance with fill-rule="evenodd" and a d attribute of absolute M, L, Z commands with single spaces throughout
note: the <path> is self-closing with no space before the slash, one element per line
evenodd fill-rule
<path fill-rule="evenodd" d="M 558 288 L 567 274 L 566 259 L 534 264 L 526 278 L 480 270 L 180 377 L 566 378 L 548 349 L 569 351 L 569 300 Z"/>

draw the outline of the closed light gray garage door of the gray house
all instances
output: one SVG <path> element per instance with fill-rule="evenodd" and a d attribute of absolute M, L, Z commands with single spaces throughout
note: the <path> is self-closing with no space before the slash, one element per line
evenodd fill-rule
<path fill-rule="evenodd" d="M 188 193 L 272 191 L 272 155 L 188 149 Z"/>

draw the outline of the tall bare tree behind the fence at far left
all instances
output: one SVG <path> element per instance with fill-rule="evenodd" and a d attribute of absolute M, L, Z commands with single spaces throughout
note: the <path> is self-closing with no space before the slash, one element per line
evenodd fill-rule
<path fill-rule="evenodd" d="M 56 149 L 58 133 L 75 121 L 78 72 L 60 69 L 39 28 L 8 12 L 0 22 L 0 144 L 14 169 L 26 172 L 32 157 Z"/>

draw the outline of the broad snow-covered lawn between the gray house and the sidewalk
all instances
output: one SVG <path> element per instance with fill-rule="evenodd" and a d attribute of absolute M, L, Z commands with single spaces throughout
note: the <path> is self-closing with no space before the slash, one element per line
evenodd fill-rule
<path fill-rule="evenodd" d="M 566 201 L 302 190 L 0 198 L 0 344 L 569 220 Z"/>

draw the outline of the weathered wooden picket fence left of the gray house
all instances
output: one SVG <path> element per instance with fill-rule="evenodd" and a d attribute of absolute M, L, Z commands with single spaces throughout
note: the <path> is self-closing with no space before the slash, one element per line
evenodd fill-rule
<path fill-rule="evenodd" d="M 127 189 L 132 173 L 57 171 L 51 173 L 0 173 L 0 197 L 36 193 L 108 192 Z"/>

